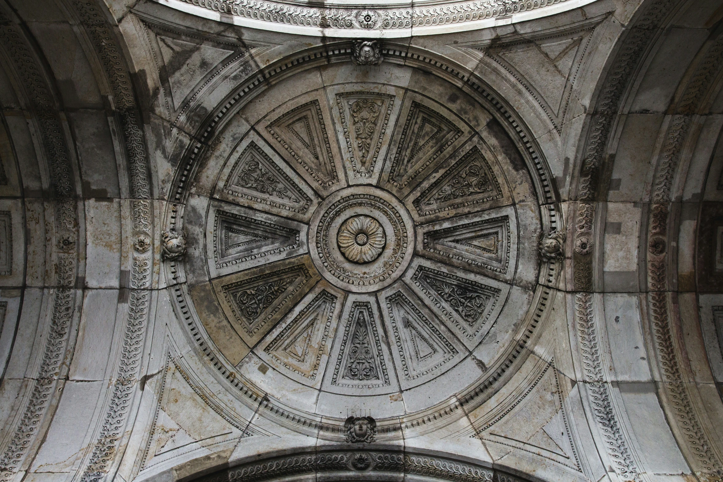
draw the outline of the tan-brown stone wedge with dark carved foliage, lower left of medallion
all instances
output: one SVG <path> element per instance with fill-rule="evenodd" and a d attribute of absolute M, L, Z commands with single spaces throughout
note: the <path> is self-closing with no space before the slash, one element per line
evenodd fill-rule
<path fill-rule="evenodd" d="M 213 280 L 223 311 L 249 345 L 265 335 L 309 291 L 319 276 L 304 262 L 288 260 Z"/>

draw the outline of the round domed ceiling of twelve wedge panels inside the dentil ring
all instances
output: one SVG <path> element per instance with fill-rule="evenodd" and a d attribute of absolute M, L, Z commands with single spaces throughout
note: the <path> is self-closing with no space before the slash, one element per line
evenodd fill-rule
<path fill-rule="evenodd" d="M 242 400 L 330 426 L 364 413 L 395 438 L 400 417 L 505 378 L 542 219 L 488 108 L 421 70 L 372 69 L 297 74 L 228 121 L 183 214 L 185 273 Z"/>

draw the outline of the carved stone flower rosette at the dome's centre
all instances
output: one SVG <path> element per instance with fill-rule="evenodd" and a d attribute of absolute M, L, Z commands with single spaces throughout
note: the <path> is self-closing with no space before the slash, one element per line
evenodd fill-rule
<path fill-rule="evenodd" d="M 344 221 L 336 235 L 336 242 L 349 261 L 368 263 L 382 254 L 387 236 L 379 221 L 361 215 Z"/>

